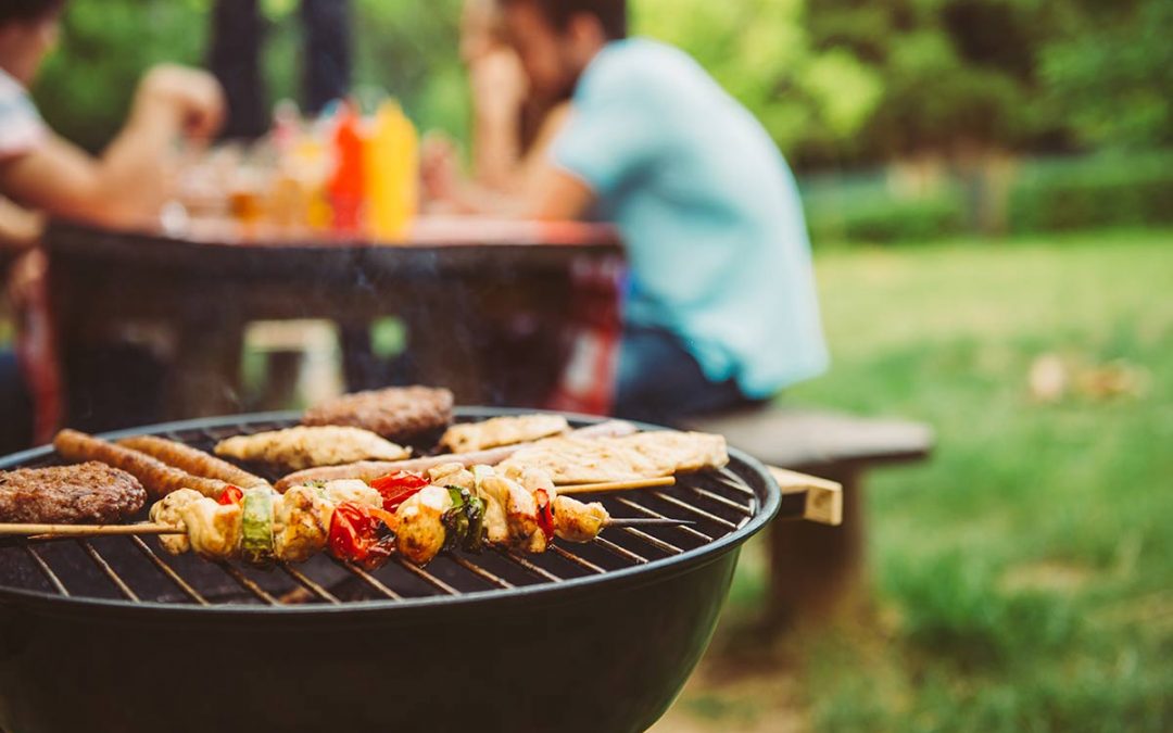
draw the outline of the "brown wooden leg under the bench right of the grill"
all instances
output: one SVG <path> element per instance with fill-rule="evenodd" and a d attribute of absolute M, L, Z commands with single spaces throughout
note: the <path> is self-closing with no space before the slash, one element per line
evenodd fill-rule
<path fill-rule="evenodd" d="M 849 609 L 863 579 L 862 470 L 850 466 L 799 470 L 843 484 L 843 523 L 771 525 L 767 623 L 775 627 L 818 622 Z"/>

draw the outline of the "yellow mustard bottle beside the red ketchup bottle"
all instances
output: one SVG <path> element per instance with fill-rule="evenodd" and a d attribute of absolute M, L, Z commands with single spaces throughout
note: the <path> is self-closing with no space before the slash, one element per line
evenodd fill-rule
<path fill-rule="evenodd" d="M 375 111 L 366 158 L 371 235 L 379 242 L 402 243 L 419 202 L 419 134 L 394 100 Z"/>

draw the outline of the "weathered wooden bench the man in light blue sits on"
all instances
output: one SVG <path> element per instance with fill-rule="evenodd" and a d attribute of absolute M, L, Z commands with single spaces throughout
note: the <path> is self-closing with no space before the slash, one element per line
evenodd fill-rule
<path fill-rule="evenodd" d="M 933 430 L 916 422 L 775 406 L 694 419 L 686 427 L 725 435 L 731 446 L 768 466 L 843 487 L 841 525 L 785 521 L 771 525 L 767 620 L 772 625 L 818 619 L 859 598 L 867 471 L 923 460 L 934 442 Z"/>

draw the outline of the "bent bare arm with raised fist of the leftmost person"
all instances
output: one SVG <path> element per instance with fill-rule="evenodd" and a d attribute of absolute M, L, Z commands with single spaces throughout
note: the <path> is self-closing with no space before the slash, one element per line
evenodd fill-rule
<path fill-rule="evenodd" d="M 48 215 L 136 223 L 165 201 L 165 161 L 175 138 L 209 137 L 222 117 L 215 79 L 158 67 L 143 79 L 129 120 L 100 158 L 49 134 L 30 152 L 0 164 L 0 191 Z"/>

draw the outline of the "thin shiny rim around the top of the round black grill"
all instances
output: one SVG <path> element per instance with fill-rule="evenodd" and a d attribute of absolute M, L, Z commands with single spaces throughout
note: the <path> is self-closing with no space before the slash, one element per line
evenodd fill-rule
<path fill-rule="evenodd" d="M 564 413 L 558 410 L 540 410 L 528 408 L 497 408 L 497 407 L 455 407 L 453 414 L 457 419 L 488 419 L 501 415 L 521 415 L 548 413 L 563 415 L 571 425 L 582 427 L 598 422 L 605 422 L 609 418 L 597 415 L 583 415 L 576 413 Z M 121 430 L 102 433 L 99 436 L 106 440 L 117 440 L 131 435 L 162 434 L 172 430 L 202 430 L 253 422 L 279 422 L 298 420 L 299 410 L 280 410 L 266 413 L 246 413 L 239 415 L 223 415 L 216 418 L 203 418 L 196 420 L 181 420 Z M 630 421 L 640 430 L 663 430 L 664 426 L 645 422 Z M 45 459 L 54 453 L 52 444 L 22 450 L 0 459 L 0 470 L 8 470 L 29 461 Z M 576 578 L 565 578 L 560 583 L 538 583 L 533 585 L 516 585 L 514 588 L 497 588 L 480 591 L 461 592 L 456 596 L 438 595 L 422 597 L 407 597 L 399 599 L 371 599 L 348 600 L 340 604 L 305 604 L 305 605 L 244 605 L 244 604 L 212 604 L 196 605 L 185 603 L 163 603 L 155 600 L 134 602 L 123 598 L 91 598 L 84 596 L 62 596 L 57 592 L 36 591 L 30 589 L 19 589 L 0 585 L 0 608 L 6 603 L 25 605 L 28 609 L 40 609 L 55 613 L 81 612 L 91 615 L 126 616 L 136 622 L 148 619 L 167 620 L 206 620 L 237 619 L 255 620 L 264 618 L 266 623 L 272 623 L 277 618 L 316 619 L 328 617 L 333 619 L 360 620 L 362 618 L 382 617 L 394 613 L 396 617 L 406 618 L 415 613 L 435 613 L 438 611 L 453 610 L 459 612 L 469 604 L 480 609 L 508 608 L 511 604 L 524 603 L 531 605 L 542 603 L 556 605 L 574 599 L 583 593 L 590 593 L 597 589 L 613 589 L 638 586 L 656 583 L 687 572 L 696 568 L 717 561 L 728 551 L 735 551 L 758 534 L 769 521 L 774 518 L 781 505 L 781 490 L 777 482 L 766 470 L 765 466 L 753 456 L 737 449 L 728 448 L 731 463 L 740 463 L 744 468 L 732 470 L 741 479 L 747 488 L 754 491 L 760 509 L 750 517 L 741 527 L 731 530 L 728 534 L 706 543 L 701 547 L 685 550 L 680 555 L 658 558 L 647 564 L 637 564 L 628 568 L 610 570 L 605 573 L 588 575 Z M 751 481 L 747 475 L 757 481 Z M 760 483 L 758 489 L 754 483 Z"/>

